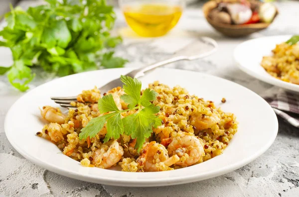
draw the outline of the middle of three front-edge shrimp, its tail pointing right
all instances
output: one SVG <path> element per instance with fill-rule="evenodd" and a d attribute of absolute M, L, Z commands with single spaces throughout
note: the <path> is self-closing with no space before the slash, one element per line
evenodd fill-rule
<path fill-rule="evenodd" d="M 140 166 L 144 166 L 147 172 L 168 170 L 169 166 L 179 160 L 177 155 L 169 158 L 166 148 L 155 141 L 144 144 L 141 153 L 136 161 Z"/>

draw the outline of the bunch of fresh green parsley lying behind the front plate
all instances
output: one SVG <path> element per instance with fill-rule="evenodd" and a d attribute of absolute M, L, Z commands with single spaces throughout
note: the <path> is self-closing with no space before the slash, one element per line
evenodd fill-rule
<path fill-rule="evenodd" d="M 10 48 L 14 63 L 0 67 L 0 74 L 7 72 L 15 88 L 28 89 L 33 66 L 59 76 L 123 67 L 127 60 L 113 56 L 122 39 L 110 36 L 116 16 L 106 0 L 46 1 L 27 11 L 11 6 L 5 14 L 0 46 Z"/>

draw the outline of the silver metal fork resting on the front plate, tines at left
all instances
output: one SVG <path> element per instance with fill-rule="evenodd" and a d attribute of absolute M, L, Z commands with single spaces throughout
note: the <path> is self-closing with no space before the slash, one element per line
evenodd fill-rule
<path fill-rule="evenodd" d="M 203 50 L 202 44 L 207 45 L 207 47 L 210 47 L 208 51 L 204 51 L 200 53 L 199 51 Z M 139 69 L 135 69 L 129 73 L 127 73 L 127 76 L 130 76 L 132 78 L 139 78 L 145 75 L 146 72 L 149 72 L 157 67 L 173 63 L 179 60 L 195 60 L 200 59 L 203 57 L 206 57 L 212 53 L 214 53 L 218 48 L 218 45 L 215 40 L 208 38 L 208 37 L 200 37 L 196 38 L 195 40 L 190 41 L 189 44 L 185 45 L 182 49 L 180 49 L 178 52 L 175 52 L 173 56 L 167 60 L 157 62 L 155 64 L 145 66 Z M 123 83 L 121 82 L 120 78 L 115 79 L 106 85 L 99 88 L 101 90 L 101 93 L 106 93 L 109 90 L 115 88 L 115 87 L 121 87 Z M 51 97 L 54 102 L 60 104 L 62 107 L 66 108 L 76 108 L 70 104 L 71 101 L 77 100 L 77 97 Z"/>

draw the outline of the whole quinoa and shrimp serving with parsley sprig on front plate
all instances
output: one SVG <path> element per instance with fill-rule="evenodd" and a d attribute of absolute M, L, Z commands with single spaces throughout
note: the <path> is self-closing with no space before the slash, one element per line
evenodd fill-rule
<path fill-rule="evenodd" d="M 41 115 L 49 123 L 36 134 L 85 167 L 119 165 L 126 172 L 154 172 L 220 155 L 237 132 L 235 115 L 213 101 L 179 86 L 154 82 L 142 90 L 137 79 L 121 76 L 121 80 L 123 88 L 104 97 L 97 88 L 83 91 L 71 103 L 77 108 L 67 114 L 44 106 Z"/>

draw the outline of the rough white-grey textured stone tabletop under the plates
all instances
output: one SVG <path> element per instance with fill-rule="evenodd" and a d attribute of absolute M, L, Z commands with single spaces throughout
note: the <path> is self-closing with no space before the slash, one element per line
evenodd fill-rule
<path fill-rule="evenodd" d="M 23 7 L 36 2 L 22 1 Z M 234 64 L 235 46 L 250 38 L 295 34 L 299 32 L 299 2 L 277 3 L 280 17 L 261 33 L 247 38 L 231 39 L 216 33 L 205 21 L 199 7 L 187 9 L 178 25 L 165 39 L 185 36 L 209 36 L 219 44 L 219 50 L 202 60 L 179 62 L 166 67 L 194 70 L 219 76 L 239 83 L 258 94 L 273 88 L 241 72 Z M 127 32 L 119 13 L 117 29 Z M 178 30 L 178 29 L 184 29 Z M 164 39 L 164 38 L 163 38 Z M 146 65 L 167 56 L 163 39 L 131 39 L 126 37 L 118 54 L 134 64 Z M 250 55 L 250 54 L 249 54 Z M 1 63 L 9 64 L 7 55 L 0 54 Z M 31 88 L 53 79 L 39 73 Z M 276 89 L 276 88 L 273 88 Z M 269 150 L 254 162 L 226 175 L 213 179 L 159 188 L 123 188 L 102 186 L 77 181 L 44 170 L 24 159 L 7 141 L 4 116 L 12 103 L 22 94 L 12 89 L 5 77 L 0 76 L 0 197 L 298 197 L 299 196 L 299 129 L 279 118 L 279 133 Z"/>

